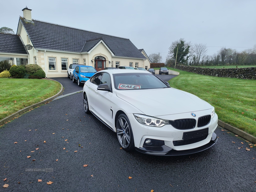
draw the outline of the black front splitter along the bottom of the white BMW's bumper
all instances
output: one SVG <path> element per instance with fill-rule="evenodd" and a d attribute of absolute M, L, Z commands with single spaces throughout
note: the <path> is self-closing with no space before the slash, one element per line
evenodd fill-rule
<path fill-rule="evenodd" d="M 136 150 L 141 152 L 141 153 L 144 153 L 144 154 L 159 155 L 159 156 L 188 155 L 188 154 L 198 153 L 198 152 L 204 151 L 204 150 L 212 147 L 213 145 L 215 145 L 217 140 L 218 140 L 218 137 L 215 134 L 215 132 L 213 132 L 212 139 L 210 140 L 210 142 L 207 143 L 206 145 L 203 145 L 203 146 L 198 147 L 198 148 L 192 148 L 192 149 L 183 150 L 183 151 L 176 151 L 173 148 L 170 148 L 166 145 L 163 145 L 163 146 L 160 146 L 160 147 L 148 147 L 148 146 L 147 147 L 140 147 L 140 148 L 136 148 Z"/>

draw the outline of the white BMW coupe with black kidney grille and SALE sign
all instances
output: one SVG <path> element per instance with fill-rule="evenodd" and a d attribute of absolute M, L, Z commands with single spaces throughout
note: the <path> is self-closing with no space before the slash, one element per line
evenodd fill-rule
<path fill-rule="evenodd" d="M 126 151 L 185 155 L 218 138 L 214 107 L 141 70 L 102 70 L 86 81 L 84 111 L 116 132 Z"/>

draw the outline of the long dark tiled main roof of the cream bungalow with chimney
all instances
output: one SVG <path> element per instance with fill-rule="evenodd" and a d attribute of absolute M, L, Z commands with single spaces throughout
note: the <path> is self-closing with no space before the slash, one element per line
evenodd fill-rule
<path fill-rule="evenodd" d="M 139 49 L 127 38 L 90 32 L 38 20 L 32 20 L 33 23 L 28 23 L 24 21 L 23 17 L 20 17 L 20 21 L 36 49 L 87 52 L 101 38 L 115 56 L 146 59 Z M 96 43 L 96 41 L 98 42 Z"/>

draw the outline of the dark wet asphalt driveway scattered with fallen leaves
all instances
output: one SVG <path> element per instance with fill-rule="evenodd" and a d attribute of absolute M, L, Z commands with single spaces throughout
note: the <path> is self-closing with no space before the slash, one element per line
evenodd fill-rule
<path fill-rule="evenodd" d="M 62 84 L 64 94 L 68 86 L 82 89 Z M 126 152 L 113 131 L 84 113 L 82 93 L 71 94 L 0 128 L 0 191 L 255 192 L 256 148 L 221 129 L 218 142 L 197 154 Z"/>

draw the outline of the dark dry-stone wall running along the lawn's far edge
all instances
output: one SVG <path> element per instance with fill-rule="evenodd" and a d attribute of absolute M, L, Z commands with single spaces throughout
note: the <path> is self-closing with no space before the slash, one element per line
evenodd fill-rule
<path fill-rule="evenodd" d="M 174 68 L 174 66 L 172 66 Z M 191 67 L 176 65 L 176 69 L 198 73 L 201 75 L 207 76 L 216 76 L 216 77 L 232 77 L 237 79 L 256 79 L 256 67 L 246 67 L 246 68 L 202 68 L 202 67 Z"/>

